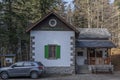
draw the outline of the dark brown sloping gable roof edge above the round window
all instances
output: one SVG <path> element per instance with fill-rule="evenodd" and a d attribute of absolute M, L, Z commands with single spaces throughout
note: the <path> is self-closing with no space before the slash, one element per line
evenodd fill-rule
<path fill-rule="evenodd" d="M 31 31 L 34 27 L 36 27 L 39 23 L 41 23 L 43 20 L 45 20 L 47 17 L 49 17 L 50 15 L 55 15 L 58 19 L 60 19 L 64 24 L 66 24 L 70 29 L 72 29 L 73 31 L 75 31 L 76 33 L 79 33 L 79 31 L 72 26 L 71 24 L 69 24 L 66 20 L 64 20 L 61 16 L 59 16 L 57 13 L 55 12 L 50 12 L 48 13 L 45 17 L 41 18 L 40 20 L 38 20 L 36 23 L 34 23 L 31 27 L 29 27 L 26 32 Z"/>

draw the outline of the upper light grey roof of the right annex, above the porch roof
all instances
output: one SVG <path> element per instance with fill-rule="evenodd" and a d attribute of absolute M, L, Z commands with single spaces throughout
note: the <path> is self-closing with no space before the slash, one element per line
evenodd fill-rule
<path fill-rule="evenodd" d="M 111 34 L 106 28 L 78 28 L 79 39 L 105 39 L 110 38 Z"/>

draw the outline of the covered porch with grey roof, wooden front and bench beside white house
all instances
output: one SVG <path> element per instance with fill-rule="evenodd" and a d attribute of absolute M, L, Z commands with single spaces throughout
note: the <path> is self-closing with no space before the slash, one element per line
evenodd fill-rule
<path fill-rule="evenodd" d="M 111 47 L 114 47 L 114 44 L 107 40 L 79 41 L 76 46 L 76 65 L 78 68 L 87 65 L 88 68 L 86 69 L 94 73 L 113 72 L 113 65 L 111 64 Z"/>

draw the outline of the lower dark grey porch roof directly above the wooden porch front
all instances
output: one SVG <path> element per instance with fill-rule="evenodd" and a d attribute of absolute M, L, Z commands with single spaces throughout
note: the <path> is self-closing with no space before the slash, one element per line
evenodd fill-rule
<path fill-rule="evenodd" d="M 78 40 L 76 47 L 80 48 L 112 48 L 115 45 L 109 40 Z"/>

